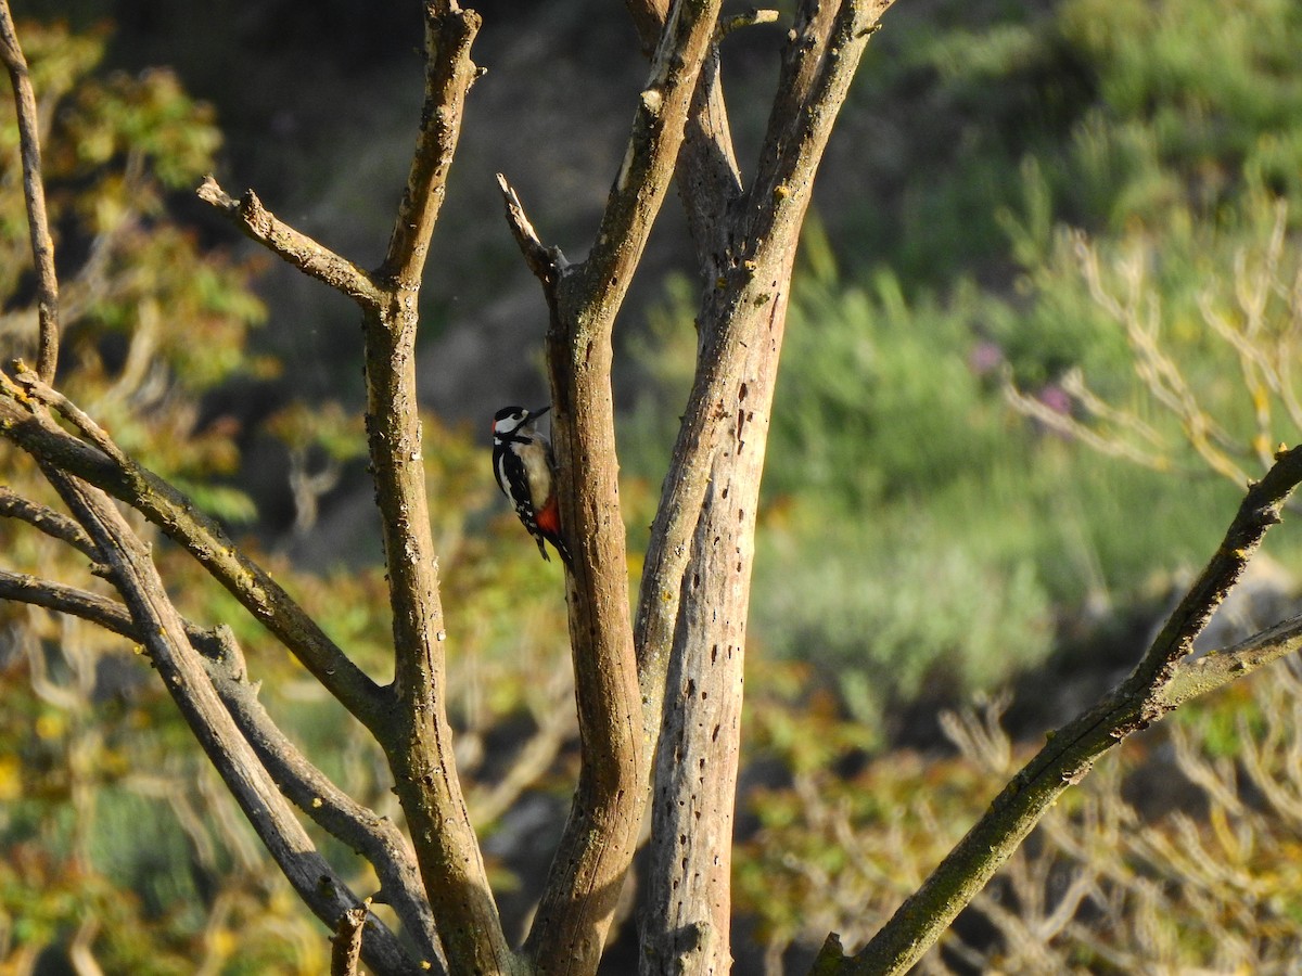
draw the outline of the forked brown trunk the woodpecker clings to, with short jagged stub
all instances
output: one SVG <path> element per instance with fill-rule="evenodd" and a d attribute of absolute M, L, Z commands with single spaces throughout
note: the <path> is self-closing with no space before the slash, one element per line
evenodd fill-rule
<path fill-rule="evenodd" d="M 504 187 L 513 233 L 542 278 L 551 308 L 552 432 L 565 472 L 559 501 L 574 553 L 568 596 L 582 768 L 526 941 L 526 951 L 547 972 L 596 969 L 646 803 L 647 751 L 615 444 L 612 333 L 668 193 L 719 7 L 719 0 L 673 4 L 586 260 L 559 267 L 536 234 L 525 229 L 522 211 L 510 210 Z"/>

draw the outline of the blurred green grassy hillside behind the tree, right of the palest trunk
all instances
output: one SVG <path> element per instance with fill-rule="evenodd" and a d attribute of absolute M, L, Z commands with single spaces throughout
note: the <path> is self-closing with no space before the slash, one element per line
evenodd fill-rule
<path fill-rule="evenodd" d="M 910 17 L 907 4 L 892 13 Z M 900 194 L 837 202 L 807 225 L 753 600 L 753 639 L 832 669 L 870 722 L 924 691 L 996 687 L 1082 614 L 1163 597 L 1232 510 L 1234 487 L 1178 446 L 1121 324 L 1091 301 L 1077 229 L 1104 267 L 1141 255 L 1161 342 L 1246 453 L 1251 403 L 1198 303 L 1232 306 L 1236 258 L 1260 250 L 1281 202 L 1289 229 L 1302 203 L 1293 5 L 1068 0 L 914 17 L 883 31 L 853 103 L 885 116 L 893 152 L 867 178 L 898 177 Z M 656 389 L 625 442 L 672 436 L 655 405 L 690 379 L 691 306 L 678 281 L 652 316 L 638 354 Z M 1057 403 L 1070 370 L 1161 431 L 1159 466 L 1186 476 L 1008 409 L 1005 380 Z M 1288 418 L 1272 431 L 1272 445 L 1297 440 Z M 639 474 L 660 463 L 634 449 Z"/>

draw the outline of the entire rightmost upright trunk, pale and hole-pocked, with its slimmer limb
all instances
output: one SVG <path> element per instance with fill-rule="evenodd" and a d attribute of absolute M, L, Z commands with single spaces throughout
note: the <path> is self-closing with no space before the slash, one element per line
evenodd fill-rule
<path fill-rule="evenodd" d="M 730 960 L 745 622 L 790 273 L 818 163 L 887 5 L 798 5 L 755 181 L 736 203 L 715 200 L 712 221 L 691 221 L 695 233 L 721 230 L 724 246 L 704 268 L 712 276 L 697 315 L 697 375 L 652 524 L 635 631 L 647 739 L 659 729 L 643 973 L 717 971 Z M 698 91 L 697 111 L 708 109 Z M 727 193 L 727 181 L 716 182 Z M 704 199 L 698 190 L 687 202 Z M 707 246 L 697 241 L 698 252 Z M 702 834 L 706 822 L 713 829 Z"/>

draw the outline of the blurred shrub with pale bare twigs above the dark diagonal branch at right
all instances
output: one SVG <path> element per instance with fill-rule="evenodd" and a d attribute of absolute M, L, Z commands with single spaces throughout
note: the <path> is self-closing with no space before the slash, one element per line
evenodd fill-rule
<path fill-rule="evenodd" d="M 1013 405 L 1099 452 L 1156 471 L 1207 468 L 1236 485 L 1302 433 L 1293 379 L 1302 336 L 1302 259 L 1289 208 L 1264 193 L 1215 225 L 1154 239 L 1060 232 L 1026 278 L 1036 305 L 1087 305 L 1124 341 L 1129 370 L 1078 362 L 1057 377 L 1068 409 L 1032 397 L 1034 370 L 1009 371 Z"/>

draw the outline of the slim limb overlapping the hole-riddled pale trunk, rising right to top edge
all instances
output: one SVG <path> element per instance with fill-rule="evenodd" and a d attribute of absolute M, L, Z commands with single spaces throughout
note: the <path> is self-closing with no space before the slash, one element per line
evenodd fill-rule
<path fill-rule="evenodd" d="M 713 228 L 720 241 L 732 243 L 717 247 L 715 241 L 697 241 L 698 251 L 712 249 L 719 267 L 715 277 L 704 282 L 697 316 L 702 333 L 697 372 L 642 573 L 635 645 L 648 747 L 660 722 L 669 642 L 691 536 L 720 439 L 741 397 L 738 367 L 749 344 L 759 341 L 758 331 L 769 320 L 777 291 L 785 290 L 784 265 L 789 265 L 796 247 L 818 161 L 868 35 L 889 5 L 891 0 L 845 0 L 840 7 L 816 5 L 822 10 L 816 16 L 801 16 L 788 40 L 779 85 L 780 98 L 789 102 L 789 115 L 779 115 L 775 105 L 760 169 L 746 193 L 751 206 L 732 206 L 727 180 L 711 181 L 697 173 L 708 173 L 712 160 L 724 152 L 725 130 L 706 124 L 695 130 L 687 156 L 694 161 L 687 185 L 695 195 L 687 203 L 690 208 L 710 207 L 716 216 L 694 217 L 693 225 Z M 806 10 L 806 5 L 801 9 Z M 698 111 L 707 111 L 710 104 L 702 102 Z M 697 146 L 700 139 L 712 139 L 715 148 Z M 704 189 L 710 185 L 723 195 L 711 197 Z"/>

